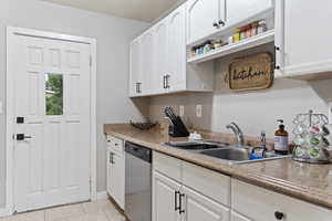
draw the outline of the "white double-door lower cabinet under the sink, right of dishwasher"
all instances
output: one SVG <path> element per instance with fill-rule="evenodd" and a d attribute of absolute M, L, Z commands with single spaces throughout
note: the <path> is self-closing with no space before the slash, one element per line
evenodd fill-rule
<path fill-rule="evenodd" d="M 153 164 L 153 221 L 229 221 L 229 204 L 219 202 L 229 203 L 229 199 L 220 197 L 225 196 L 225 188 L 230 192 L 229 177 L 157 152 L 154 152 Z M 205 179 L 191 186 L 186 180 L 193 180 L 195 171 Z M 210 191 L 206 187 L 214 187 L 210 183 L 216 180 L 220 191 L 216 190 L 214 199 L 208 197 Z"/>

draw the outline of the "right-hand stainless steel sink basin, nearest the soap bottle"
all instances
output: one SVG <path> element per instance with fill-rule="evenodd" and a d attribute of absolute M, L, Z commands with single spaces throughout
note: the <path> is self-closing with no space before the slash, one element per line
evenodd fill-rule
<path fill-rule="evenodd" d="M 203 150 L 199 151 L 199 154 L 227 160 L 228 164 L 247 164 L 290 157 L 277 155 L 274 152 L 266 152 L 264 157 L 252 159 L 251 150 L 251 147 L 229 147 L 224 149 Z"/>

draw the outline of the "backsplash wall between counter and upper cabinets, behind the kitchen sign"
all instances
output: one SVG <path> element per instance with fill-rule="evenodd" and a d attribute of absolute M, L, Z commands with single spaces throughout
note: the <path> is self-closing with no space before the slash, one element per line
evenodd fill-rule
<path fill-rule="evenodd" d="M 271 88 L 256 92 L 232 93 L 224 82 L 231 59 L 259 51 L 273 52 L 273 45 L 263 45 L 246 53 L 219 59 L 215 63 L 215 92 L 207 94 L 187 94 L 159 96 L 151 99 L 149 116 L 160 118 L 160 108 L 173 105 L 178 110 L 185 105 L 189 126 L 214 131 L 227 131 L 225 126 L 236 122 L 249 136 L 259 136 L 266 130 L 272 137 L 277 129 L 277 119 L 284 119 L 291 133 L 295 114 L 313 109 L 328 114 L 328 102 L 332 101 L 332 80 L 304 82 L 276 80 Z M 203 117 L 195 116 L 196 105 L 203 105 Z"/>

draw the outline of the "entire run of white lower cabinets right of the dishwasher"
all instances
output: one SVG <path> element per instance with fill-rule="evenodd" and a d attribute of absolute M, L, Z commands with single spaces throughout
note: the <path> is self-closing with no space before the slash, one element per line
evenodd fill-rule
<path fill-rule="evenodd" d="M 331 221 L 332 210 L 154 152 L 153 221 Z"/>

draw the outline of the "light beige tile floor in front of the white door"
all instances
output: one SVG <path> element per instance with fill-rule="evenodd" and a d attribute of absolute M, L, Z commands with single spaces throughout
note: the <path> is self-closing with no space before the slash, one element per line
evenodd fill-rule
<path fill-rule="evenodd" d="M 0 218 L 0 221 L 125 221 L 111 201 L 98 200 Z"/>

